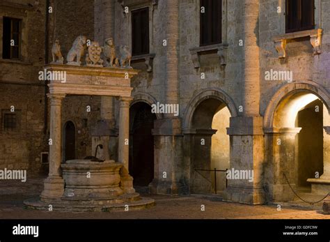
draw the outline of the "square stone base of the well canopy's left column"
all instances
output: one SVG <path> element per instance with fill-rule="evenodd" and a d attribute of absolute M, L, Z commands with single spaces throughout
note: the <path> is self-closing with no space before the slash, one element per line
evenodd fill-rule
<path fill-rule="evenodd" d="M 64 194 L 64 180 L 61 176 L 48 176 L 44 181 L 44 190 L 40 198 L 44 202 L 52 199 L 61 199 Z"/>

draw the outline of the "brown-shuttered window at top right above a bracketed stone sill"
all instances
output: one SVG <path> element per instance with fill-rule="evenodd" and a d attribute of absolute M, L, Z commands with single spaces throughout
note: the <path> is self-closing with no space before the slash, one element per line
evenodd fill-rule
<path fill-rule="evenodd" d="M 286 33 L 314 29 L 314 0 L 286 1 Z"/>

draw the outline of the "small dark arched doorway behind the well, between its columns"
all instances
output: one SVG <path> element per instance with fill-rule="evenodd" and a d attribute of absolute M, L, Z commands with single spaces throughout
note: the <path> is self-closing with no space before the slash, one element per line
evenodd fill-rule
<path fill-rule="evenodd" d="M 65 162 L 66 160 L 74 160 L 76 158 L 76 128 L 72 121 L 68 121 L 65 123 L 63 130 L 63 162 Z"/>

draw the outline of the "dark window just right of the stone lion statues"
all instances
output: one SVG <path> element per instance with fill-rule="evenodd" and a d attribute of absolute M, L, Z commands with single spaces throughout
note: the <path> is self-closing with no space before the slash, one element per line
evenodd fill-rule
<path fill-rule="evenodd" d="M 149 54 L 149 8 L 132 11 L 132 55 Z"/>

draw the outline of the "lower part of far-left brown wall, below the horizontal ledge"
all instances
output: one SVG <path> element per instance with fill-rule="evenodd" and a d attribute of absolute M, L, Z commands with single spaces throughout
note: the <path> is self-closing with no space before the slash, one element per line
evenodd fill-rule
<path fill-rule="evenodd" d="M 47 152 L 43 133 L 43 86 L 1 84 L 0 169 L 27 169 L 28 176 L 43 170 L 40 152 Z M 17 129 L 3 129 L 3 114 L 15 107 Z"/>

